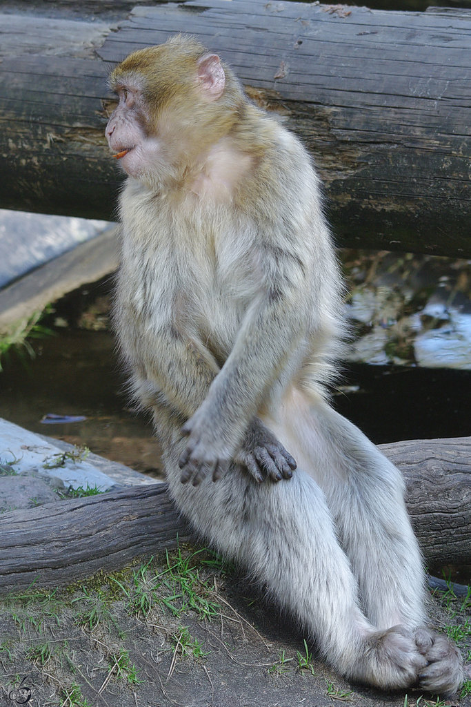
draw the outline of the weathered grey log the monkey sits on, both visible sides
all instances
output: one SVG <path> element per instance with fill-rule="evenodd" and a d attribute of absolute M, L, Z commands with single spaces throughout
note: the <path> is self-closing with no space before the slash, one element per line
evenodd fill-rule
<path fill-rule="evenodd" d="M 471 564 L 471 438 L 381 445 L 403 470 L 430 566 Z M 131 486 L 1 517 L 0 590 L 71 583 L 190 539 L 165 484 Z"/>

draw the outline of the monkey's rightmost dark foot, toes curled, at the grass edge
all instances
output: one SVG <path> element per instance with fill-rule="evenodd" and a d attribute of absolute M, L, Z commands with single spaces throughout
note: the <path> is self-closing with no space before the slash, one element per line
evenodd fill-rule
<path fill-rule="evenodd" d="M 454 694 L 463 683 L 463 658 L 458 646 L 442 633 L 416 629 L 415 643 L 427 660 L 419 674 L 419 688 L 443 696 Z"/>

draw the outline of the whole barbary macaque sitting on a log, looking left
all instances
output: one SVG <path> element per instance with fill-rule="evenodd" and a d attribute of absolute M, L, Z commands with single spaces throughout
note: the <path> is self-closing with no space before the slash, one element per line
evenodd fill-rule
<path fill-rule="evenodd" d="M 342 675 L 453 693 L 403 479 L 328 400 L 342 285 L 306 150 L 191 37 L 110 84 L 129 175 L 115 323 L 175 503 Z"/>

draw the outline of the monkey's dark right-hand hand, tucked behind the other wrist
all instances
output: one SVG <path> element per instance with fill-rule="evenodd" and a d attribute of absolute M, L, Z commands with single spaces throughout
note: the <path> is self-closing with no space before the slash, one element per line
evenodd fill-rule
<path fill-rule="evenodd" d="M 291 479 L 296 469 L 290 452 L 258 417 L 251 421 L 234 462 L 242 464 L 259 484 L 267 477 L 272 481 Z"/>

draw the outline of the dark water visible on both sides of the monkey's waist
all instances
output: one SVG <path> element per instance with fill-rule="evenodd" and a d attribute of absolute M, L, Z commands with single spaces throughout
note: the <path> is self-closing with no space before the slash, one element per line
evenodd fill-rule
<path fill-rule="evenodd" d="M 4 363 L 1 417 L 42 434 L 76 437 L 94 452 L 114 452 L 113 458 L 117 439 L 151 438 L 144 416 L 127 407 L 112 334 L 62 329 L 35 346 L 28 368 L 15 354 Z M 471 434 L 470 392 L 470 370 L 353 364 L 345 368 L 334 404 L 375 443 L 458 437 Z M 87 420 L 42 424 L 51 413 Z M 126 456 L 124 463 L 141 470 L 157 464 L 144 463 L 135 452 L 136 459 Z"/>

